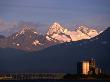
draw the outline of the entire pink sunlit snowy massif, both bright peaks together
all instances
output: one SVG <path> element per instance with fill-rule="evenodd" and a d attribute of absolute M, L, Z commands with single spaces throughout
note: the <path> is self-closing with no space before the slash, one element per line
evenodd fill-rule
<path fill-rule="evenodd" d="M 98 32 L 94 29 L 87 28 L 86 26 L 80 26 L 75 31 L 69 31 L 61 26 L 59 23 L 54 23 L 50 26 L 47 32 L 47 40 L 54 42 L 71 42 L 82 39 L 90 39 L 98 35 Z"/>

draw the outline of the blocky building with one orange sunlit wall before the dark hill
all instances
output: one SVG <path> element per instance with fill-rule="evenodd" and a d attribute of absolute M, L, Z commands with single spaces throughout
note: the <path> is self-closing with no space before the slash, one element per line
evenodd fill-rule
<path fill-rule="evenodd" d="M 99 75 L 101 68 L 97 67 L 95 59 L 86 59 L 77 63 L 77 73 L 83 75 Z"/>

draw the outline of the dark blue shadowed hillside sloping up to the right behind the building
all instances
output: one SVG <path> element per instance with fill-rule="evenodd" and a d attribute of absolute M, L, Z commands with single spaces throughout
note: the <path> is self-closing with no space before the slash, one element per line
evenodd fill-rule
<path fill-rule="evenodd" d="M 95 38 L 58 44 L 39 52 L 0 49 L 0 71 L 76 73 L 77 62 L 92 57 L 110 73 L 109 35 L 110 27 Z"/>

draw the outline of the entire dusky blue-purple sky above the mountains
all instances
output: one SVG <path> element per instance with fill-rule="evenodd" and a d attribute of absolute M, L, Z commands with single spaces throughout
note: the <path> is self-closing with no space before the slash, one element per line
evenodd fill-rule
<path fill-rule="evenodd" d="M 0 0 L 0 32 L 21 21 L 38 24 L 41 31 L 53 22 L 69 29 L 83 24 L 105 29 L 110 26 L 110 0 Z"/>

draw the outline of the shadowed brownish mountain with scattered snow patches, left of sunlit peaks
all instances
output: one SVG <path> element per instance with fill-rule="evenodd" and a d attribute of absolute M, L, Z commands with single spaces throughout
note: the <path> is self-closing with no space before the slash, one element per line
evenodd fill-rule
<path fill-rule="evenodd" d="M 23 27 L 20 31 L 0 41 L 1 47 L 17 48 L 21 50 L 38 50 L 45 45 L 46 39 L 35 29 Z"/>

